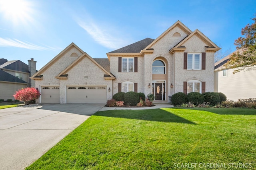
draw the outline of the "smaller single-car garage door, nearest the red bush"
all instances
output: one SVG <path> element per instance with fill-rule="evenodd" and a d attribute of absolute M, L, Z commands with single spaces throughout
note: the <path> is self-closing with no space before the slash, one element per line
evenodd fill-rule
<path fill-rule="evenodd" d="M 60 87 L 41 86 L 41 103 L 60 103 Z"/>

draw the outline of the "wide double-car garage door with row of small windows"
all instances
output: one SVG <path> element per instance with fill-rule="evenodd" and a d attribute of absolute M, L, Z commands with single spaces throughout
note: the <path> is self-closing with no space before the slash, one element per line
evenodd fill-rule
<path fill-rule="evenodd" d="M 67 103 L 106 103 L 106 86 L 66 86 Z"/>

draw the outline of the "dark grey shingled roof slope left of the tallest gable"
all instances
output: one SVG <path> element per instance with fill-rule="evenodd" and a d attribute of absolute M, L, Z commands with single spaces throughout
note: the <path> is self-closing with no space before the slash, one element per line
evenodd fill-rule
<path fill-rule="evenodd" d="M 127 45 L 120 49 L 111 51 L 109 53 L 140 53 L 141 50 L 145 49 L 150 43 L 152 43 L 154 39 L 145 38 L 136 43 Z"/>

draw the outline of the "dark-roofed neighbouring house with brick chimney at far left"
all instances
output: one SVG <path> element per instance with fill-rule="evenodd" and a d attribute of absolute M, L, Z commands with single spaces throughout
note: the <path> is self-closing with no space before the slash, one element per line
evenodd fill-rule
<path fill-rule="evenodd" d="M 35 81 L 29 77 L 36 73 L 36 61 L 28 60 L 28 64 L 20 60 L 7 61 L 0 59 L 0 99 L 14 100 L 14 93 L 28 86 L 35 87 Z"/>

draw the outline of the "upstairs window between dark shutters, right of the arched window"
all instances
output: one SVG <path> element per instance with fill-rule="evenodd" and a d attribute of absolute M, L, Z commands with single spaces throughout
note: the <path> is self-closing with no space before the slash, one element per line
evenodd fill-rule
<path fill-rule="evenodd" d="M 201 54 L 200 53 L 188 53 L 188 70 L 201 70 Z"/>

